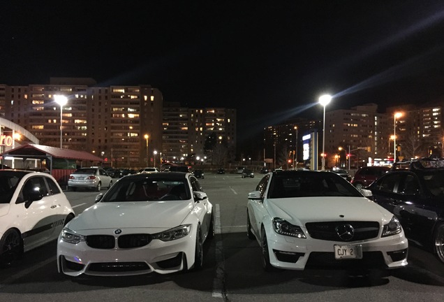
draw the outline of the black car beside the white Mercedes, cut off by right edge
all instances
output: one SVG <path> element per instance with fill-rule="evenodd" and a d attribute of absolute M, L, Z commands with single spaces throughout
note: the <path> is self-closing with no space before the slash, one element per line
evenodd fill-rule
<path fill-rule="evenodd" d="M 397 216 L 409 240 L 444 263 L 444 160 L 394 164 L 369 189 L 369 198 Z"/>

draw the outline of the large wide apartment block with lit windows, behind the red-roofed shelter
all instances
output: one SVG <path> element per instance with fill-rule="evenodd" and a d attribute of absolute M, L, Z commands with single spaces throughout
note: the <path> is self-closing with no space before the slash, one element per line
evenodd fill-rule
<path fill-rule="evenodd" d="M 59 106 L 54 95 L 64 95 Z M 145 166 L 162 148 L 163 96 L 149 85 L 97 87 L 90 78 L 51 78 L 49 85 L 0 85 L 1 117 L 41 145 L 82 150 L 114 167 Z"/>

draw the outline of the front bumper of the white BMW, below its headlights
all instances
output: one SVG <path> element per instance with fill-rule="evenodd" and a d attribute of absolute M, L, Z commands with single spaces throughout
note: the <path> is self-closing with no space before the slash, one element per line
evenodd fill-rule
<path fill-rule="evenodd" d="M 194 264 L 195 236 L 163 242 L 152 240 L 137 248 L 97 249 L 86 242 L 66 243 L 59 237 L 57 267 L 59 273 L 77 276 L 142 275 L 175 273 Z"/>

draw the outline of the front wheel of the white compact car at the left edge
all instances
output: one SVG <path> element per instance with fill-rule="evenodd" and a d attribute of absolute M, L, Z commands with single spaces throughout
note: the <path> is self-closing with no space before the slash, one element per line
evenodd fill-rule
<path fill-rule="evenodd" d="M 0 240 L 0 266 L 8 267 L 22 257 L 23 241 L 20 233 L 15 229 L 9 229 Z"/>

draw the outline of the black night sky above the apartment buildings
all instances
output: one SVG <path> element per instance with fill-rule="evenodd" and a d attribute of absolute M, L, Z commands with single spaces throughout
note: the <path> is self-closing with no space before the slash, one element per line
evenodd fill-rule
<path fill-rule="evenodd" d="M 444 96 L 443 1 L 1 1 L 0 83 L 147 84 L 237 109 L 239 141 L 294 116 Z"/>

